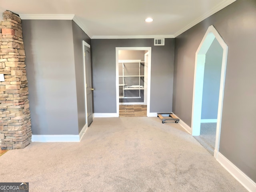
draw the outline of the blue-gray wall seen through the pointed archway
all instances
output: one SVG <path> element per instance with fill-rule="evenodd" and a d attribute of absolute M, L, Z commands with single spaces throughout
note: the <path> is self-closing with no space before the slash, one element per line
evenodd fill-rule
<path fill-rule="evenodd" d="M 206 53 L 201 119 L 217 119 L 223 49 L 214 39 Z"/>

